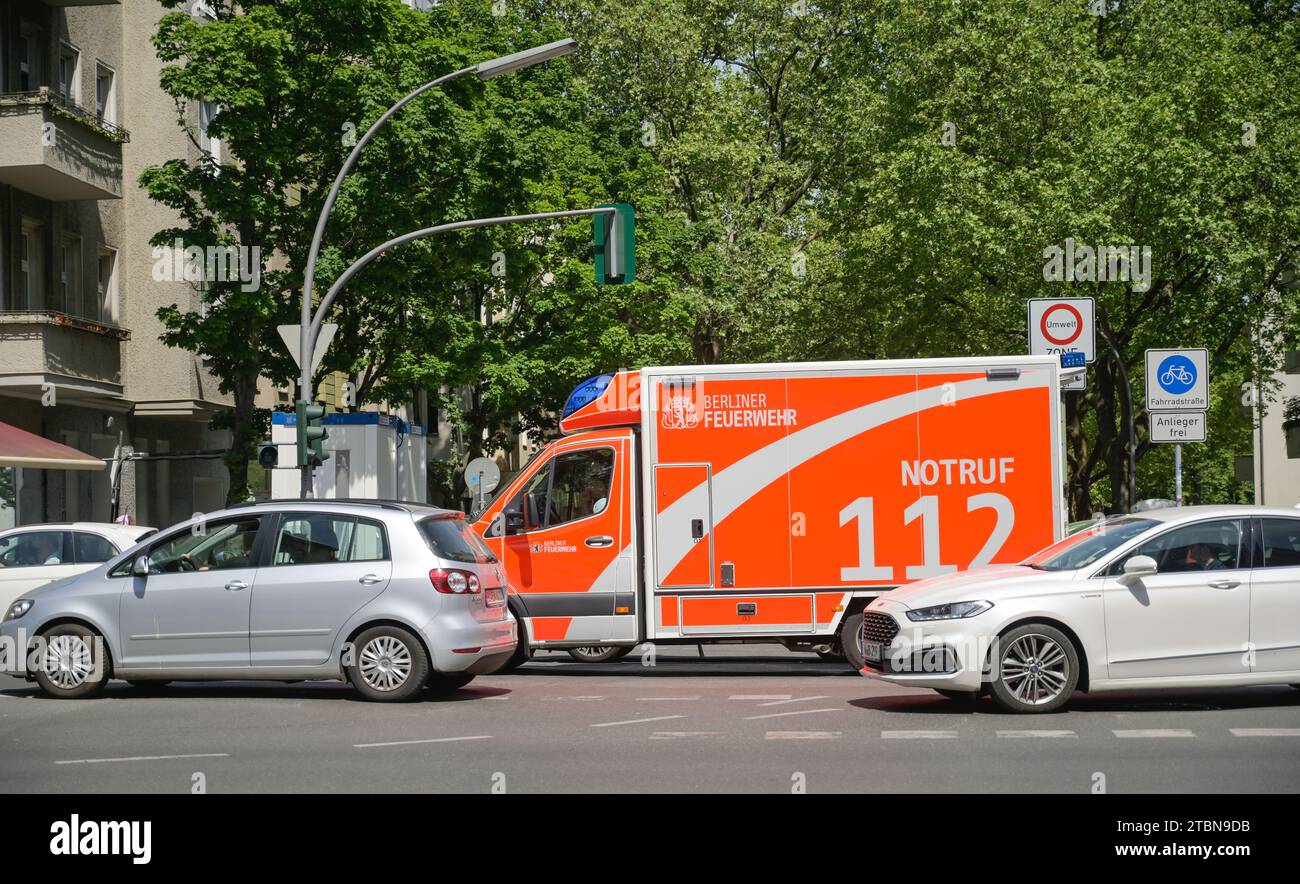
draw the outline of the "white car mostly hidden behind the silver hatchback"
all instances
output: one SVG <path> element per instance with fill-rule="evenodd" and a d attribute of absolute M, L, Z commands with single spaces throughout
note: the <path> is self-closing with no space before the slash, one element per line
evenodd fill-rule
<path fill-rule="evenodd" d="M 90 571 L 152 534 L 143 525 L 69 521 L 0 532 L 0 607 L 30 589 Z"/>

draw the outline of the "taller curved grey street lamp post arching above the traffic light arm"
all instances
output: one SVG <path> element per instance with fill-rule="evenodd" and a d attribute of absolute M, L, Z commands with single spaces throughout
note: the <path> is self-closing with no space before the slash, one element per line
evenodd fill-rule
<path fill-rule="evenodd" d="M 433 79 L 417 90 L 412 91 L 404 96 L 400 101 L 394 104 L 391 108 L 384 112 L 378 120 L 365 130 L 365 134 L 358 139 L 352 151 L 347 155 L 343 161 L 342 168 L 334 177 L 334 185 L 330 187 L 329 194 L 325 196 L 325 204 L 321 207 L 320 217 L 316 220 L 316 231 L 312 234 L 312 244 L 307 252 L 307 266 L 303 274 L 303 303 L 302 303 L 302 328 L 299 330 L 299 347 L 298 354 L 302 361 L 302 373 L 299 374 L 299 399 L 303 402 L 311 402 L 312 395 L 312 355 L 316 352 L 316 335 L 320 330 L 321 320 L 325 315 L 325 308 L 328 303 L 321 303 L 316 317 L 312 317 L 312 283 L 316 280 L 316 257 L 320 254 L 321 239 L 325 235 L 325 225 L 329 221 L 330 209 L 334 208 L 334 202 L 338 199 L 339 187 L 343 183 L 343 177 L 351 172 L 352 166 L 356 164 L 356 157 L 360 155 L 361 148 L 374 136 L 374 133 L 393 117 L 394 113 L 400 110 L 407 103 L 415 98 L 428 92 L 429 90 L 441 86 L 448 81 L 458 77 L 464 77 L 465 74 L 477 74 L 480 79 L 488 81 L 493 77 L 499 77 L 502 74 L 514 73 L 516 70 L 523 70 L 536 64 L 543 61 L 550 61 L 551 58 L 558 58 L 560 56 L 569 55 L 577 49 L 577 42 L 572 39 L 555 40 L 554 43 L 547 43 L 545 46 L 537 46 L 530 49 L 524 49 L 523 52 L 515 52 L 508 56 L 502 56 L 499 58 L 489 58 L 472 68 L 462 68 L 450 74 L 443 74 L 437 79 Z M 403 239 L 403 242 L 406 242 Z M 395 244 L 395 243 L 394 243 Z M 359 268 L 358 268 L 359 269 Z M 335 283 L 334 289 L 338 286 Z M 333 294 L 333 291 L 332 291 Z M 311 495 L 312 488 L 312 468 L 311 465 L 302 467 L 302 497 Z"/>

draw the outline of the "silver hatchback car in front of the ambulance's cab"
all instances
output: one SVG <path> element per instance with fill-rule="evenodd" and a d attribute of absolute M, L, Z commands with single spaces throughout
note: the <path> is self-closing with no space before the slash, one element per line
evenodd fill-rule
<path fill-rule="evenodd" d="M 68 698 L 110 677 L 342 679 L 402 701 L 498 668 L 516 641 L 502 568 L 460 512 L 274 500 L 25 593 L 0 623 L 0 668 Z"/>

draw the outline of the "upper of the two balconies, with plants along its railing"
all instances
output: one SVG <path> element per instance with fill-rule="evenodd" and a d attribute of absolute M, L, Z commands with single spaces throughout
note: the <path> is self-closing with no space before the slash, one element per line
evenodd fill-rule
<path fill-rule="evenodd" d="M 48 200 L 121 199 L 125 129 L 48 87 L 0 94 L 0 183 Z"/>

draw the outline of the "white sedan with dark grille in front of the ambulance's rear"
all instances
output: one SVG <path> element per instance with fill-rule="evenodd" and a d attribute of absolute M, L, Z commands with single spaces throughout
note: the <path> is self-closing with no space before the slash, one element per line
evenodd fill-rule
<path fill-rule="evenodd" d="M 1300 686 L 1300 514 L 1154 510 L 881 595 L 862 673 L 1048 712 L 1075 690 Z"/>

